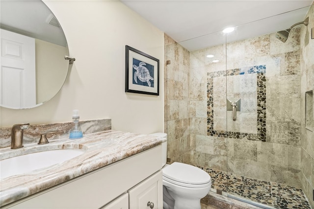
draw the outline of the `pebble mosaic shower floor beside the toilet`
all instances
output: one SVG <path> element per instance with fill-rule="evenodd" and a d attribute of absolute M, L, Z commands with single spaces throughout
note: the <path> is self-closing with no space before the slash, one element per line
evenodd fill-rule
<path fill-rule="evenodd" d="M 209 173 L 214 189 L 278 209 L 311 209 L 300 188 L 198 167 Z"/>

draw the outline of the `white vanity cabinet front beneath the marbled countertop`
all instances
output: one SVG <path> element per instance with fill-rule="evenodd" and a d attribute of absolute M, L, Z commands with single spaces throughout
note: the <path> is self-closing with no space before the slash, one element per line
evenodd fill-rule
<path fill-rule="evenodd" d="M 162 209 L 161 161 L 159 145 L 1 208 Z"/>

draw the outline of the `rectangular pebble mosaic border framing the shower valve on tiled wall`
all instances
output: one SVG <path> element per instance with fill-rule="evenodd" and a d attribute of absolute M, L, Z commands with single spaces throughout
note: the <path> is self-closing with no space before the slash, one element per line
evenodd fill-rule
<path fill-rule="evenodd" d="M 240 133 L 232 131 L 214 130 L 214 111 L 213 111 L 213 78 L 220 76 L 245 75 L 256 73 L 257 75 L 257 131 L 258 134 Z M 221 70 L 208 72 L 207 80 L 207 126 L 208 135 L 214 137 L 248 139 L 266 141 L 266 66 L 259 65 L 253 67 L 245 67 L 241 69 Z"/>

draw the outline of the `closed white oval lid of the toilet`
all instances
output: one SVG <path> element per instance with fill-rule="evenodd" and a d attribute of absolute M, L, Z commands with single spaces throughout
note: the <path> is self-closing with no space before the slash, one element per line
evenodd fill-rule
<path fill-rule="evenodd" d="M 204 170 L 184 163 L 172 163 L 162 169 L 162 175 L 173 181 L 202 185 L 210 182 L 210 176 Z"/>

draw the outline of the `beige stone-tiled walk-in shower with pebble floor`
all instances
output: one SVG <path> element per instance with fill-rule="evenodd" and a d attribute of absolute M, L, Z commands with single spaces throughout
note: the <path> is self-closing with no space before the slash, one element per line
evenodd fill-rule
<path fill-rule="evenodd" d="M 199 166 L 212 176 L 214 189 L 253 202 L 313 208 L 305 197 L 313 196 L 313 132 L 302 115 L 313 71 L 301 67 L 310 59 L 300 56 L 304 31 L 290 33 L 285 44 L 272 33 L 191 52 L 165 35 L 170 163 Z M 235 121 L 226 99 L 241 99 Z"/>

